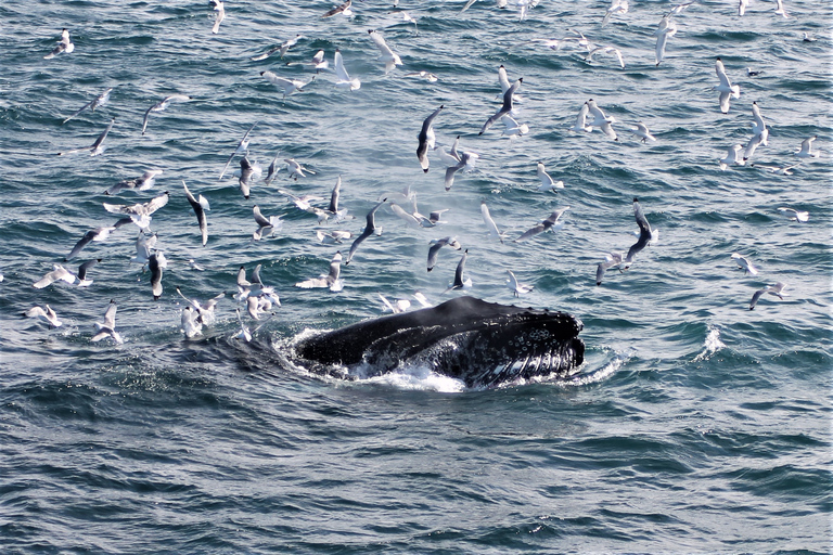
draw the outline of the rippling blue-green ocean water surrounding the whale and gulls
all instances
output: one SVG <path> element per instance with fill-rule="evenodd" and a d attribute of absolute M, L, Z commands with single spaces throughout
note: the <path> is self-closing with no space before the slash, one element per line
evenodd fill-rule
<path fill-rule="evenodd" d="M 783 18 L 761 0 L 739 17 L 733 2 L 699 2 L 675 16 L 656 66 L 653 31 L 669 2 L 632 2 L 606 26 L 605 2 L 542 0 L 524 21 L 514 7 L 462 5 L 366 0 L 351 17 L 321 18 L 331 2 L 229 0 L 213 35 L 209 2 L 0 4 L 3 553 L 831 551 L 831 7 L 787 0 Z M 75 51 L 43 60 L 64 27 Z M 370 29 L 401 56 L 389 75 Z M 567 29 L 618 48 L 625 68 L 534 42 Z M 251 60 L 297 34 L 306 38 L 283 60 Z M 336 48 L 359 90 L 286 65 L 320 49 L 332 64 Z M 726 115 L 717 56 L 741 86 Z M 529 132 L 512 140 L 500 124 L 478 135 L 499 107 L 501 64 L 524 79 L 517 119 Z M 284 101 L 264 70 L 316 79 Z M 407 76 L 419 70 L 438 80 Z M 62 125 L 108 87 L 108 104 Z M 151 114 L 142 135 L 145 111 L 176 93 L 193 99 Z M 619 141 L 568 131 L 590 98 L 615 117 Z M 791 176 L 721 171 L 727 147 L 751 137 L 753 101 L 769 144 L 749 162 L 798 162 L 810 135 L 821 155 Z M 437 142 L 460 135 L 479 155 L 448 192 L 437 154 L 427 173 L 415 156 L 422 120 L 440 104 Z M 111 118 L 103 155 L 55 155 L 92 144 Z M 637 121 L 657 141 L 638 142 Z M 248 201 L 236 179 L 218 180 L 255 122 L 252 160 L 266 169 L 293 157 L 316 173 L 295 181 L 283 170 Z M 536 190 L 539 160 L 563 190 Z M 103 194 L 150 168 L 164 169 L 150 191 Z M 338 176 L 354 220 L 319 225 L 278 192 L 326 197 Z M 210 202 L 205 247 L 183 180 Z M 447 222 L 414 230 L 382 208 L 382 235 L 342 267 L 342 292 L 294 286 L 348 248 L 319 244 L 316 230 L 358 234 L 376 199 L 405 186 L 423 214 L 448 208 Z M 102 203 L 164 191 L 170 202 L 151 224 L 169 260 L 159 300 L 130 262 L 132 224 L 67 262 L 101 258 L 91 286 L 31 286 L 117 219 Z M 658 241 L 597 286 L 605 253 L 635 242 L 633 197 Z M 489 238 L 482 201 L 503 244 Z M 284 221 L 259 242 L 255 204 Z M 560 229 L 511 241 L 564 206 Z M 584 322 L 577 376 L 484 390 L 426 367 L 345 380 L 287 360 L 299 336 L 382 314 L 377 294 L 460 295 L 445 293 L 460 253 L 444 249 L 425 271 L 428 242 L 446 235 L 469 249 L 473 286 L 462 294 Z M 744 275 L 735 251 L 759 274 Z M 281 307 L 246 343 L 231 294 L 238 269 L 256 264 Z M 535 289 L 514 298 L 505 270 Z M 789 296 L 749 311 L 774 282 Z M 201 337 L 180 331 L 177 286 L 198 299 L 228 293 Z M 124 344 L 91 343 L 111 299 Z M 61 327 L 22 315 L 44 304 Z"/>

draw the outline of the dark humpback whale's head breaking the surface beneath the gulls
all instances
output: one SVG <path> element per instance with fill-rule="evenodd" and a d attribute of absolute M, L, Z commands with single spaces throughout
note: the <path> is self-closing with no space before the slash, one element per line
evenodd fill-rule
<path fill-rule="evenodd" d="M 575 373 L 585 354 L 577 337 L 581 328 L 581 321 L 565 312 L 458 297 L 304 338 L 295 354 L 317 373 L 343 376 L 344 366 L 360 366 L 373 376 L 422 364 L 469 388 L 488 388 Z"/>

